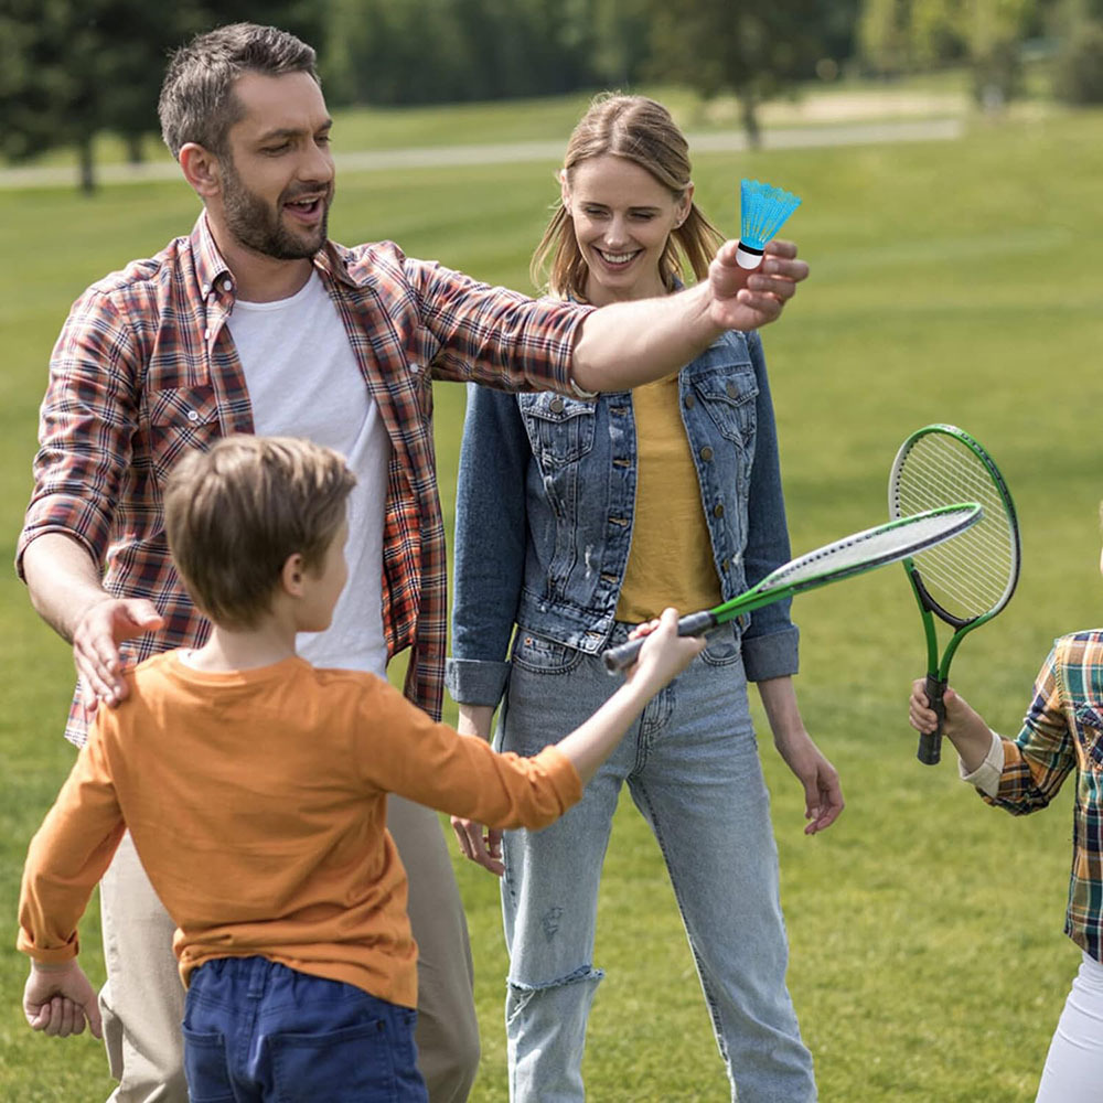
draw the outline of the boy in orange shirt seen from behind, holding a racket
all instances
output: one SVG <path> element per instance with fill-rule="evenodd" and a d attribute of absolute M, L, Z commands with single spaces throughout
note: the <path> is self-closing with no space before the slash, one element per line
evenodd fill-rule
<path fill-rule="evenodd" d="M 370 674 L 315 670 L 296 634 L 324 630 L 344 587 L 353 481 L 335 452 L 286 438 L 231 437 L 181 460 L 165 529 L 211 635 L 129 673 L 31 842 L 29 1024 L 99 1035 L 76 925 L 129 829 L 178 927 L 196 1099 L 425 1100 L 386 794 L 545 826 L 703 645 L 667 610 L 639 630 L 654 635 L 612 699 L 531 759 L 435 724 Z"/>

